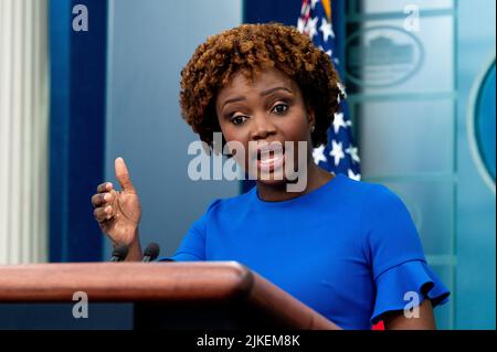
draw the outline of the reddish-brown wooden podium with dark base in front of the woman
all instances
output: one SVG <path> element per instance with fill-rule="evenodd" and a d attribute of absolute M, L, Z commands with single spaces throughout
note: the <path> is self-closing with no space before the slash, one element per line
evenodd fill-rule
<path fill-rule="evenodd" d="M 0 303 L 133 303 L 134 329 L 339 328 L 236 262 L 0 266 Z"/>

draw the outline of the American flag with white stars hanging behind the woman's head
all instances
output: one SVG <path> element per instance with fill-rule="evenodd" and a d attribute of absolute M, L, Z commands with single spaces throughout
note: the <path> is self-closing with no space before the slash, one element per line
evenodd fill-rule
<path fill-rule="evenodd" d="M 329 15 L 327 14 L 328 10 Z M 338 71 L 339 61 L 335 55 L 335 32 L 331 25 L 330 0 L 304 0 L 298 30 L 309 36 L 322 50 Z M 343 93 L 345 88 L 339 87 Z M 343 173 L 350 179 L 360 180 L 360 159 L 352 140 L 352 122 L 346 100 L 340 102 L 341 111 L 335 114 L 334 124 L 328 130 L 328 143 L 315 148 L 313 158 L 316 164 L 332 173 Z"/>

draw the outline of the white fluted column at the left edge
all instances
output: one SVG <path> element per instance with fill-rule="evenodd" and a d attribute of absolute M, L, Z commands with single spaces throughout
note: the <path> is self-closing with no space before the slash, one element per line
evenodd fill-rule
<path fill-rule="evenodd" d="M 0 264 L 47 260 L 47 0 L 0 0 Z"/>

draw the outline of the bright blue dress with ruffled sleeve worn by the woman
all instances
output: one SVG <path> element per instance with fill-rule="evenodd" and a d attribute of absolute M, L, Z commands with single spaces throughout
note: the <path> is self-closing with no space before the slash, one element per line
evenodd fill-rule
<path fill-rule="evenodd" d="M 343 329 L 450 295 L 402 201 L 341 174 L 288 201 L 263 201 L 256 188 L 215 200 L 163 259 L 236 260 Z"/>

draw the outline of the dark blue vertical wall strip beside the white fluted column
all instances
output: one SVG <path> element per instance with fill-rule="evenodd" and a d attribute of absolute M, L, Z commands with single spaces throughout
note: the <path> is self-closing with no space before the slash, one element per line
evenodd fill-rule
<path fill-rule="evenodd" d="M 72 9 L 88 9 L 73 31 Z M 50 262 L 101 260 L 89 199 L 104 177 L 107 1 L 50 1 Z"/>

